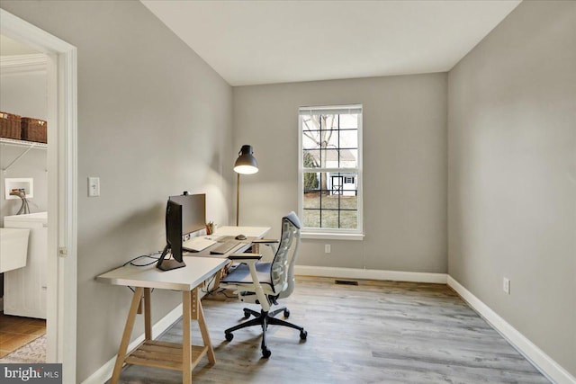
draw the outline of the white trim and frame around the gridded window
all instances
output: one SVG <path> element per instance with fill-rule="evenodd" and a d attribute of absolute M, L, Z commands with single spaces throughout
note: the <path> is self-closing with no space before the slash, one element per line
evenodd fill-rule
<path fill-rule="evenodd" d="M 298 212 L 303 220 L 303 174 L 304 165 L 302 158 L 302 114 L 309 114 L 316 111 L 334 111 L 346 113 L 351 110 L 360 110 L 362 118 L 358 121 L 358 164 L 354 171 L 357 171 L 358 179 L 358 228 L 356 229 L 335 229 L 335 228 L 302 228 L 301 236 L 304 239 L 338 239 L 338 240 L 364 240 L 364 175 L 363 175 L 363 125 L 364 108 L 362 104 L 347 104 L 334 106 L 311 106 L 298 109 Z M 339 172 L 346 171 L 347 168 L 338 168 Z"/>

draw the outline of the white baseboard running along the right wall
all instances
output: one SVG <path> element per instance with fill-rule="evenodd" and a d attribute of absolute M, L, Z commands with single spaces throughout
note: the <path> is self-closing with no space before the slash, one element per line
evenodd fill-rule
<path fill-rule="evenodd" d="M 522 335 L 516 328 L 494 312 L 490 307 L 476 298 L 469 290 L 466 290 L 462 284 L 455 281 L 448 275 L 447 284 L 455 290 L 472 308 L 474 308 L 491 326 L 493 326 L 500 335 L 512 344 L 518 352 L 522 353 L 527 360 L 532 362 L 542 371 L 548 379 L 558 384 L 576 384 L 576 379 L 572 374 L 563 369 L 557 362 L 548 356 L 544 351 L 538 348 L 526 336 Z"/>

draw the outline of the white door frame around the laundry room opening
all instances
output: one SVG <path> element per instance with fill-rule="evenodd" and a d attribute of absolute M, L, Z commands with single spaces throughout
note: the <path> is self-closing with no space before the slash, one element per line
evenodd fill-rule
<path fill-rule="evenodd" d="M 0 9 L 0 33 L 46 54 L 48 74 L 47 362 L 76 382 L 76 47 Z"/>

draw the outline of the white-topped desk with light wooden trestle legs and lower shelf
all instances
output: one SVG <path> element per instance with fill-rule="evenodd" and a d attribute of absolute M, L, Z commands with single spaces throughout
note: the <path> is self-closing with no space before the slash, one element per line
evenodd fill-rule
<path fill-rule="evenodd" d="M 216 232 L 217 236 L 234 231 L 233 235 L 244 234 L 256 235 L 253 238 L 264 237 L 270 228 L 248 228 L 248 227 L 223 227 L 224 231 Z M 234 229 L 231 229 L 234 228 Z M 238 232 L 239 231 L 239 232 Z M 250 246 L 247 240 L 238 250 L 231 253 L 241 252 Z M 120 379 L 121 368 L 124 362 L 128 364 L 146 365 L 150 367 L 167 368 L 182 371 L 182 382 L 190 384 L 192 382 L 192 370 L 200 362 L 204 355 L 208 356 L 211 364 L 216 362 L 214 350 L 208 334 L 208 328 L 204 320 L 202 303 L 198 296 L 199 286 L 209 279 L 213 274 L 220 272 L 229 263 L 228 255 L 218 255 L 219 257 L 205 257 L 210 254 L 208 251 L 184 255 L 186 266 L 172 271 L 159 271 L 156 264 L 139 267 L 125 265 L 110 272 L 103 273 L 96 277 L 97 281 L 108 284 L 135 287 L 134 295 L 130 304 L 128 318 L 124 326 L 120 348 L 116 356 L 116 363 L 112 373 L 111 383 L 115 384 Z M 152 339 L 152 323 L 150 308 L 150 290 L 153 288 L 162 290 L 180 290 L 182 292 L 183 305 L 183 336 L 182 344 L 159 342 Z M 130 344 L 130 335 L 134 327 L 136 315 L 139 313 L 140 302 L 144 296 L 144 342 L 139 344 L 133 351 L 127 353 Z M 190 333 L 191 319 L 197 320 L 202 334 L 203 345 L 193 345 Z"/>

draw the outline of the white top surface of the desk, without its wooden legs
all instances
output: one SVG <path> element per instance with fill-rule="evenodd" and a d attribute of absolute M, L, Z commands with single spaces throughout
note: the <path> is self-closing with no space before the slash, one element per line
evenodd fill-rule
<path fill-rule="evenodd" d="M 264 237 L 270 228 L 266 227 L 222 227 L 216 230 L 216 236 Z M 241 231 L 241 232 L 238 232 Z M 229 254 L 243 252 L 250 246 L 247 239 L 244 246 L 235 248 Z M 220 268 L 229 263 L 228 255 L 210 255 L 209 250 L 199 253 L 184 253 L 186 266 L 172 271 L 160 271 L 156 263 L 147 266 L 124 265 L 96 277 L 96 281 L 112 285 L 130 287 L 158 288 L 164 290 L 193 290 L 202 281 L 210 278 Z"/>

